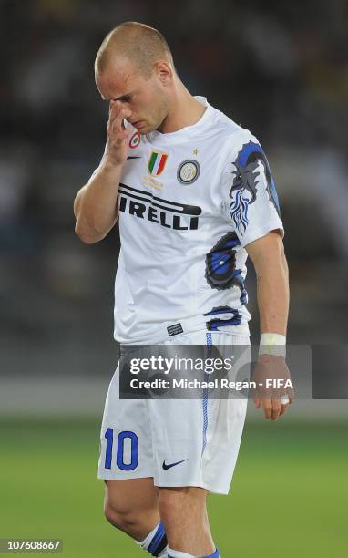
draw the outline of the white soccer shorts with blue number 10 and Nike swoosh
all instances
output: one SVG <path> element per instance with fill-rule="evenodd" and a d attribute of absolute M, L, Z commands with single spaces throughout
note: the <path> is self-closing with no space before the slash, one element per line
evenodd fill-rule
<path fill-rule="evenodd" d="M 220 354 L 226 347 L 229 355 L 232 346 L 243 345 L 244 364 L 251 358 L 249 336 L 204 330 L 164 343 L 220 346 Z M 159 487 L 197 486 L 228 494 L 247 399 L 120 399 L 118 368 L 107 392 L 98 478 L 153 477 Z"/>

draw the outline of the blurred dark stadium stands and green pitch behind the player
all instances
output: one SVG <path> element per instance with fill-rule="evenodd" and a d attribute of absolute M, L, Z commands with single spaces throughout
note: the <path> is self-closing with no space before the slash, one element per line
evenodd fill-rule
<path fill-rule="evenodd" d="M 96 479 L 118 235 L 83 245 L 72 212 L 104 149 L 101 40 L 121 21 L 159 27 L 189 90 L 260 138 L 287 233 L 289 340 L 342 346 L 347 17 L 346 0 L 0 0 L 0 538 L 139 555 L 103 520 Z M 251 270 L 248 283 L 255 313 Z M 274 424 L 251 408 L 231 496 L 210 498 L 224 558 L 343 555 L 347 427 L 346 400 L 297 401 Z"/>

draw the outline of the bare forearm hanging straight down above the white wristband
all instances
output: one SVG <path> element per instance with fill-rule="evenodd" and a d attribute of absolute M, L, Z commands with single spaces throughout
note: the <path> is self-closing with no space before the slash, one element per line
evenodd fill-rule
<path fill-rule="evenodd" d="M 261 261 L 255 269 L 261 334 L 278 333 L 286 336 L 289 315 L 289 273 L 283 251 L 269 254 L 267 262 Z"/>

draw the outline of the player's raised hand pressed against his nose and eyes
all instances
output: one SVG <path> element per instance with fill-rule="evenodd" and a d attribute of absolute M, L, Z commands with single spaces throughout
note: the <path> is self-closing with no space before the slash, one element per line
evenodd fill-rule
<path fill-rule="evenodd" d="M 127 160 L 130 129 L 126 129 L 123 119 L 128 119 L 130 110 L 124 109 L 119 101 L 110 101 L 107 120 L 107 148 L 104 161 L 107 165 L 122 165 Z"/>

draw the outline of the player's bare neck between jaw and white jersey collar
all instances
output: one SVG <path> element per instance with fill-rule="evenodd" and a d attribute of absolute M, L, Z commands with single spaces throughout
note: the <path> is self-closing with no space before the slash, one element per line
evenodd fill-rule
<path fill-rule="evenodd" d="M 205 109 L 206 107 L 192 97 L 188 89 L 178 79 L 170 101 L 168 115 L 158 130 L 163 134 L 168 134 L 186 126 L 192 126 L 201 119 Z"/>

